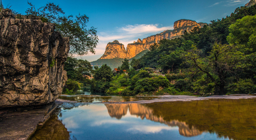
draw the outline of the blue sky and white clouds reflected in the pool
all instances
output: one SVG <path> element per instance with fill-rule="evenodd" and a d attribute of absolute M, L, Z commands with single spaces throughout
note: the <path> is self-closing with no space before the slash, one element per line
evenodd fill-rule
<path fill-rule="evenodd" d="M 178 126 L 142 120 L 129 109 L 118 120 L 110 116 L 104 104 L 91 104 L 62 109 L 59 119 L 71 131 L 71 137 L 74 135 L 77 139 L 224 139 L 208 132 L 186 137 L 180 135 Z"/>

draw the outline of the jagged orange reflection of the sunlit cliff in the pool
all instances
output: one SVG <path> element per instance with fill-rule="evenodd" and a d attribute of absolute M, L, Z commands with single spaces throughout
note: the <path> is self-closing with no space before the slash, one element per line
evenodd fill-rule
<path fill-rule="evenodd" d="M 132 115 L 137 115 L 137 117 L 140 116 L 141 119 L 146 118 L 147 120 L 166 124 L 171 127 L 178 126 L 179 133 L 183 136 L 196 136 L 203 132 L 196 129 L 194 126 L 190 127 L 185 122 L 180 122 L 178 120 L 165 121 L 162 116 L 154 114 L 153 109 L 141 104 L 105 104 L 105 106 L 108 109 L 110 116 L 116 119 L 121 119 L 122 116 L 126 115 L 127 110 L 129 109 L 129 112 Z"/>

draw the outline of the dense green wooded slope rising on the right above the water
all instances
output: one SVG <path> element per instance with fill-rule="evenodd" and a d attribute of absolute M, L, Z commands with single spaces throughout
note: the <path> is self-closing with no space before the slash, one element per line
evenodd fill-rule
<path fill-rule="evenodd" d="M 177 91 L 254 94 L 255 14 L 256 5 L 239 7 L 226 18 L 185 31 L 180 38 L 160 40 L 150 52 L 133 59 L 131 65 L 135 69 L 163 69 L 170 87 Z"/>

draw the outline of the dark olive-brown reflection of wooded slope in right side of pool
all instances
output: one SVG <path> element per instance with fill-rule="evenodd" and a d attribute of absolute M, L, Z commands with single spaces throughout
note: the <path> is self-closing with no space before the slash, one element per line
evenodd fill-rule
<path fill-rule="evenodd" d="M 256 139 L 256 99 L 145 104 L 165 121 L 178 120 L 230 139 Z"/>

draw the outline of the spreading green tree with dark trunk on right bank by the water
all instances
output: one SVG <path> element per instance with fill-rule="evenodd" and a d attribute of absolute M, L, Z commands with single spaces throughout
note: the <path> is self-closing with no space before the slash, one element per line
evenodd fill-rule
<path fill-rule="evenodd" d="M 222 45 L 215 43 L 209 56 L 201 57 L 201 50 L 195 45 L 188 52 L 186 58 L 191 68 L 207 75 L 215 86 L 215 93 L 225 94 L 226 79 L 228 75 L 237 75 L 239 68 L 243 67 L 244 53 L 239 51 L 238 46 Z M 218 87 L 218 88 L 217 88 Z"/>

